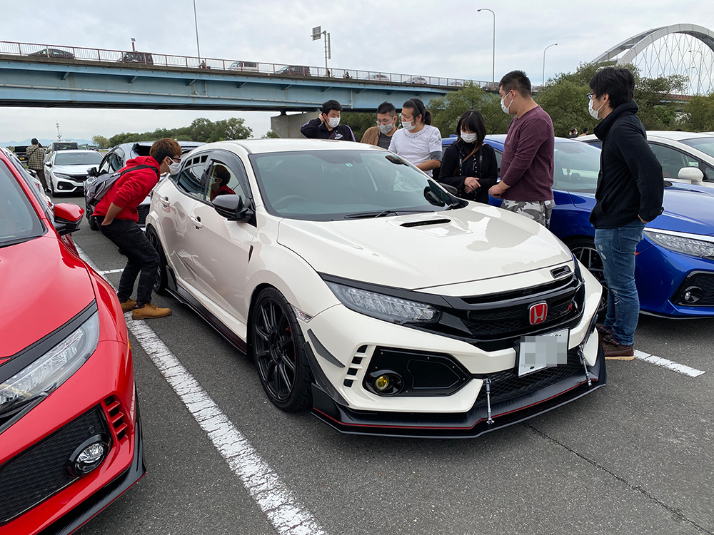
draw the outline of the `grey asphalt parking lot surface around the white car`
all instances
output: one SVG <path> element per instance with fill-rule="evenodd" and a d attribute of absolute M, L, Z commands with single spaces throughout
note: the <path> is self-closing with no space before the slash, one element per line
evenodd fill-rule
<path fill-rule="evenodd" d="M 124 267 L 86 221 L 73 236 L 99 270 Z M 120 276 L 105 275 L 115 286 Z M 643 360 L 608 362 L 607 387 L 525 424 L 424 440 L 343 435 L 309 412 L 279 411 L 255 366 L 191 309 L 172 297 L 154 304 L 174 313 L 146 325 L 311 514 L 315 532 L 714 534 L 711 320 L 640 316 L 635 347 L 705 372 L 697 377 Z M 131 342 L 148 472 L 77 533 L 285 532 Z"/>

